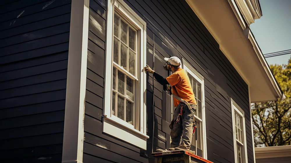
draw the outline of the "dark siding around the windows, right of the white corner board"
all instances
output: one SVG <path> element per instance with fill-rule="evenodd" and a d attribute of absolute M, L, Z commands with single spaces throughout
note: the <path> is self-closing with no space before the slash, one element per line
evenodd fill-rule
<path fill-rule="evenodd" d="M 169 74 L 162 68 L 164 63 L 159 59 L 178 56 L 203 75 L 208 160 L 234 162 L 230 100 L 233 98 L 245 112 L 246 152 L 248 162 L 253 162 L 248 85 L 187 2 L 124 1 L 147 23 L 146 59 L 150 67 L 167 77 Z M 106 4 L 105 0 L 90 0 L 83 162 L 153 162 L 150 157 L 152 146 L 153 150 L 170 146 L 167 127 L 171 117 L 169 120 L 167 105 L 171 98 L 152 74 L 146 79 L 147 134 L 150 137 L 147 150 L 102 133 Z M 198 151 L 200 154 L 201 151 Z"/>

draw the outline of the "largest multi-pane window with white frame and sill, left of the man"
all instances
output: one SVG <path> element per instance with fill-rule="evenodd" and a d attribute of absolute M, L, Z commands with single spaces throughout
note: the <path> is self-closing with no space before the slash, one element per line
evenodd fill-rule
<path fill-rule="evenodd" d="M 146 149 L 146 23 L 123 0 L 107 3 L 103 132 Z"/>

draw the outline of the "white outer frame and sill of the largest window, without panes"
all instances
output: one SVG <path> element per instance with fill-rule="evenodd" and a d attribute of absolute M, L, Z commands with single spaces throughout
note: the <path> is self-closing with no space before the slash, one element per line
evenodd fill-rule
<path fill-rule="evenodd" d="M 146 23 L 137 15 L 123 0 L 107 1 L 107 34 L 106 34 L 106 71 L 105 71 L 105 94 L 103 114 L 103 132 L 131 143 L 139 148 L 146 150 L 146 74 L 142 71 L 146 65 Z M 140 47 L 140 127 L 141 131 L 134 129 L 127 122 L 111 116 L 111 92 L 112 92 L 112 50 L 113 50 L 113 15 L 114 7 L 118 8 L 127 18 L 129 18 L 139 29 L 141 29 Z M 138 61 L 138 60 L 137 60 Z"/>

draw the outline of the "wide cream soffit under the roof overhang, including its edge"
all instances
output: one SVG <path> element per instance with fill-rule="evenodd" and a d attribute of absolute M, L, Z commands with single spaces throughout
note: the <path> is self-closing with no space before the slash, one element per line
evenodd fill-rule
<path fill-rule="evenodd" d="M 250 87 L 251 102 L 282 98 L 254 37 L 237 13 L 237 6 L 225 0 L 186 0 L 219 43 L 220 49 Z"/>

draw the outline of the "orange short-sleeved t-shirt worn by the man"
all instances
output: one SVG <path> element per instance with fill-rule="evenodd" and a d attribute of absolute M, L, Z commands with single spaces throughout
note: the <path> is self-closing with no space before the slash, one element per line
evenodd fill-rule
<path fill-rule="evenodd" d="M 166 80 L 172 86 L 172 93 L 174 95 L 186 100 L 189 104 L 197 105 L 189 77 L 182 68 L 179 68 L 172 75 L 168 76 Z M 175 98 L 173 100 L 175 107 L 181 102 Z"/>

